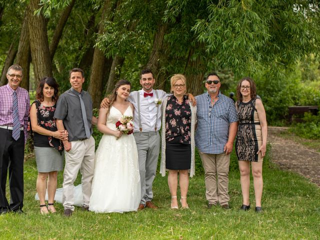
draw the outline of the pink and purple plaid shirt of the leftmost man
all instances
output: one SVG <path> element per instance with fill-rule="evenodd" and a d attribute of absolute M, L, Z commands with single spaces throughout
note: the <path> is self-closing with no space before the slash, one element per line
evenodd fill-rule
<path fill-rule="evenodd" d="M 12 126 L 12 94 L 13 89 L 6 84 L 0 87 L 0 125 Z M 15 90 L 18 97 L 20 126 L 24 126 L 24 140 L 27 138 L 30 97 L 27 90 L 18 86 Z"/>

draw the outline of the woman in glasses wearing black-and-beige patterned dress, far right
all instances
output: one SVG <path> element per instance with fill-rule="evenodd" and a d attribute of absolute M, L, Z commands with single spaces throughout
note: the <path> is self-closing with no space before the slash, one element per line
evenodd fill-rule
<path fill-rule="evenodd" d="M 266 150 L 267 126 L 262 101 L 256 97 L 255 83 L 249 77 L 243 77 L 236 87 L 238 100 L 235 103 L 239 126 L 235 141 L 235 150 L 239 162 L 242 206 L 248 210 L 250 187 L 250 162 L 253 175 L 255 211 L 260 212 L 262 196 L 262 161 Z"/>

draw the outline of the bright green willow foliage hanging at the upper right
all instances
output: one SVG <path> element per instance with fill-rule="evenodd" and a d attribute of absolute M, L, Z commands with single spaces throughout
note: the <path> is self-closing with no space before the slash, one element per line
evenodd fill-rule
<path fill-rule="evenodd" d="M 238 76 L 269 71 L 271 77 L 306 54 L 318 54 L 318 8 L 308 0 L 225 0 L 208 4 L 207 12 L 192 31 L 212 68 Z"/>

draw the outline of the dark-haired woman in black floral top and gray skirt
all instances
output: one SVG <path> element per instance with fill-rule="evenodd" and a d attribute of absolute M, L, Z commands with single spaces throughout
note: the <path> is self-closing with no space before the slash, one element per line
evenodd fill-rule
<path fill-rule="evenodd" d="M 56 212 L 53 201 L 57 184 L 57 171 L 63 168 L 63 144 L 67 132 L 57 130 L 53 114 L 58 99 L 58 84 L 53 77 L 40 80 L 36 100 L 30 108 L 31 129 L 35 160 L 38 169 L 36 191 L 42 214 Z M 48 193 L 48 207 L 45 205 L 45 191 Z"/>

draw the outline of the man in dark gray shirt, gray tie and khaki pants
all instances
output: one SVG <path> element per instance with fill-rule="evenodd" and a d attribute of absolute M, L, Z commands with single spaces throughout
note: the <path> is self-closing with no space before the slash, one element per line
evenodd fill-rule
<path fill-rule="evenodd" d="M 82 208 L 88 210 L 91 196 L 91 182 L 94 171 L 94 138 L 85 134 L 85 121 L 82 117 L 79 94 L 82 95 L 86 121 L 92 133 L 91 124 L 96 124 L 97 118 L 92 116 L 92 100 L 89 93 L 82 90 L 84 72 L 80 68 L 70 70 L 71 88 L 59 97 L 54 117 L 58 130 L 66 129 L 68 140 L 63 141 L 65 149 L 65 166 L 63 172 L 62 203 L 64 215 L 70 216 L 74 210 L 73 183 L 80 169 L 82 174 Z"/>

